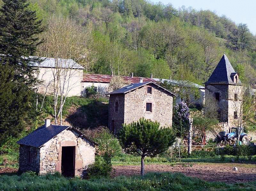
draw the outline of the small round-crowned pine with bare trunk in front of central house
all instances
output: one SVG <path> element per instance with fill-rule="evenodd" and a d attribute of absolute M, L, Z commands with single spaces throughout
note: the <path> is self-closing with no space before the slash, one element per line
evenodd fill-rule
<path fill-rule="evenodd" d="M 171 128 L 159 127 L 158 122 L 141 118 L 124 124 L 119 132 L 120 144 L 127 153 L 141 156 L 141 175 L 144 175 L 144 159 L 166 151 L 175 142 Z"/>

